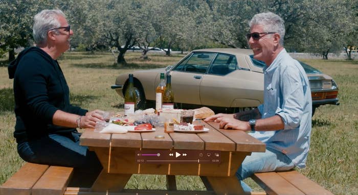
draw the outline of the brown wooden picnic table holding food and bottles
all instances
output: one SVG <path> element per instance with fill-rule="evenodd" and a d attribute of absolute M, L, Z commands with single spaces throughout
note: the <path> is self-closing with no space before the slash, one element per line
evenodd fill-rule
<path fill-rule="evenodd" d="M 94 150 L 103 170 L 91 188 L 91 192 L 121 192 L 132 174 L 166 175 L 169 190 L 176 189 L 175 176 L 200 176 L 207 189 L 216 194 L 244 194 L 235 173 L 243 159 L 252 152 L 265 151 L 265 144 L 245 132 L 220 129 L 218 123 L 204 122 L 207 133 L 164 133 L 163 127 L 155 132 L 102 134 L 85 129 L 80 144 Z M 155 138 L 163 135 L 164 138 Z M 218 150 L 219 164 L 139 164 L 138 150 Z M 174 180 L 173 180 L 174 179 Z M 86 194 L 91 194 L 87 192 Z"/>

